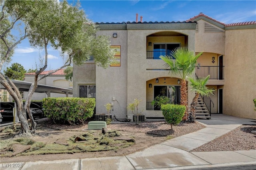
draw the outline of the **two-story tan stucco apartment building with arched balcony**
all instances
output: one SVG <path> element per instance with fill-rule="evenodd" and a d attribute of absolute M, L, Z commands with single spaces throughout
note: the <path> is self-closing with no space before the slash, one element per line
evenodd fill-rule
<path fill-rule="evenodd" d="M 73 97 L 95 97 L 96 114 L 112 103 L 111 114 L 127 119 L 126 107 L 137 98 L 147 119 L 162 118 L 151 101 L 166 95 L 179 103 L 180 77 L 169 74 L 159 56 L 180 46 L 204 52 L 192 76 L 210 75 L 208 87 L 216 91 L 204 101 L 211 113 L 256 119 L 256 21 L 224 24 L 200 13 L 184 22 L 97 24 L 97 36 L 110 36 L 117 50 L 114 61 L 108 69 L 93 61 L 73 67 Z M 189 103 L 193 97 L 188 86 Z"/>

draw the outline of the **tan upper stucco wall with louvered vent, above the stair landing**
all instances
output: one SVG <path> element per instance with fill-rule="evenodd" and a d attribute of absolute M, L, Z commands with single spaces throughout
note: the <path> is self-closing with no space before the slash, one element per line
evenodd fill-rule
<path fill-rule="evenodd" d="M 196 33 L 196 52 L 212 52 L 224 54 L 225 51 L 225 32 L 204 32 L 204 23 L 198 21 L 198 33 Z M 209 22 L 206 22 L 210 24 Z M 212 24 L 210 24 L 212 25 Z M 215 26 L 216 27 L 216 26 Z M 221 30 L 221 28 L 219 28 Z"/>

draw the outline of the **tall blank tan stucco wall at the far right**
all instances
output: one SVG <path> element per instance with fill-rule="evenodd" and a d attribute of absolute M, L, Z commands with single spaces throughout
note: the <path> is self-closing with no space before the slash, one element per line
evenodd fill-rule
<path fill-rule="evenodd" d="M 256 29 L 226 30 L 223 113 L 256 119 Z"/>

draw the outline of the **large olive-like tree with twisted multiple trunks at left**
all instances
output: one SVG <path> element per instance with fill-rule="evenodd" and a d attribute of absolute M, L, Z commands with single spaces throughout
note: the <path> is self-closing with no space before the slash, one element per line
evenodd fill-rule
<path fill-rule="evenodd" d="M 95 63 L 106 68 L 114 51 L 110 49 L 107 36 L 96 37 L 96 25 L 86 18 L 79 4 L 70 6 L 66 1 L 20 1 L 1 0 L 0 14 L 0 48 L 2 65 L 10 61 L 13 50 L 18 43 L 28 39 L 30 45 L 44 49 L 44 62 L 35 73 L 34 82 L 30 86 L 26 102 L 14 83 L 1 72 L 1 84 L 13 97 L 17 104 L 17 115 L 22 129 L 19 136 L 32 136 L 36 123 L 29 109 L 31 98 L 36 90 L 38 81 L 52 73 L 70 66 L 72 62 L 81 65 L 90 56 L 94 56 Z M 12 35 L 12 30 L 18 30 L 20 36 Z M 63 55 L 64 65 L 45 75 L 40 75 L 48 66 L 48 47 L 59 49 Z M 2 55 L 3 54 L 3 55 Z M 26 119 L 26 110 L 31 121 L 31 127 Z"/>

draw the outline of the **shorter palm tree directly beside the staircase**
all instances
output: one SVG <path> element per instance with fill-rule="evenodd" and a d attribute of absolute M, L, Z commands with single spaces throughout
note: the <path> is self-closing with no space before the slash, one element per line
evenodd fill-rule
<path fill-rule="evenodd" d="M 190 114 L 189 114 L 189 121 L 194 122 L 196 119 L 196 105 L 197 105 L 197 99 L 199 95 L 201 96 L 209 96 L 210 94 L 213 94 L 212 92 L 215 91 L 214 89 L 208 89 L 206 87 L 206 84 L 210 78 L 210 75 L 208 75 L 206 78 L 203 79 L 194 79 L 192 77 L 188 77 L 188 80 L 190 81 L 190 86 L 192 89 L 190 91 L 194 91 L 196 93 L 195 97 L 192 100 L 192 103 L 190 104 Z"/>

